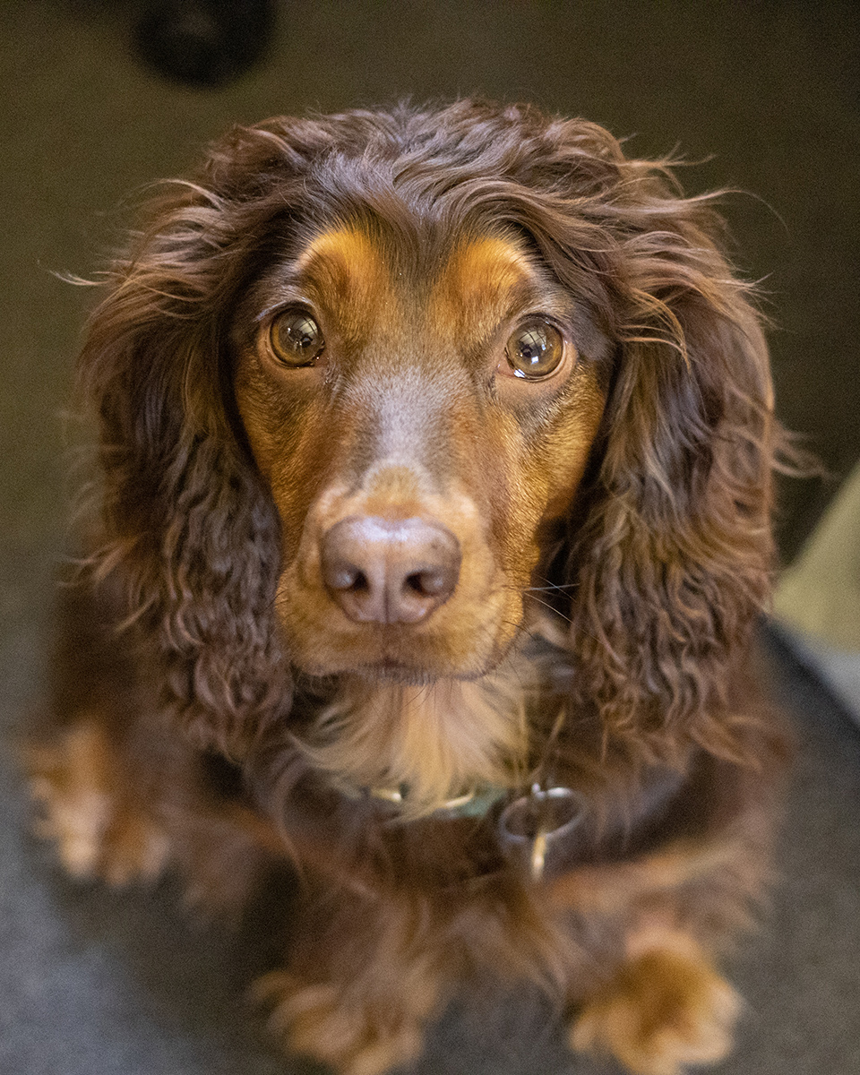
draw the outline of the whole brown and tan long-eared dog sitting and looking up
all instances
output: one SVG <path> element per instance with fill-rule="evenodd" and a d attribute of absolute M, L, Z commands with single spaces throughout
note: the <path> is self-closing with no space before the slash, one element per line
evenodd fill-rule
<path fill-rule="evenodd" d="M 210 913 L 291 863 L 286 1049 L 408 1064 L 491 973 L 636 1075 L 729 1050 L 786 748 L 720 234 L 670 162 L 467 100 L 235 128 L 109 273 L 41 831 Z"/>

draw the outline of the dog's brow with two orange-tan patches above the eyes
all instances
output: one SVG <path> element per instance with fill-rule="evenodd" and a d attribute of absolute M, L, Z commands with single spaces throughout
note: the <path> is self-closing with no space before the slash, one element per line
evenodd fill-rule
<path fill-rule="evenodd" d="M 492 234 L 455 235 L 439 246 L 335 227 L 307 244 L 295 271 L 340 320 L 364 332 L 399 320 L 438 335 L 484 335 L 547 291 L 522 245 Z"/>

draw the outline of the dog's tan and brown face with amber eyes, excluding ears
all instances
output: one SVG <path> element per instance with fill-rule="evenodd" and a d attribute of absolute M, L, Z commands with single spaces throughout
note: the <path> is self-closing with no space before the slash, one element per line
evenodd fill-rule
<path fill-rule="evenodd" d="M 295 663 L 424 682 L 524 622 L 605 403 L 608 342 L 512 235 L 317 228 L 234 328 L 235 395 L 283 527 Z"/>

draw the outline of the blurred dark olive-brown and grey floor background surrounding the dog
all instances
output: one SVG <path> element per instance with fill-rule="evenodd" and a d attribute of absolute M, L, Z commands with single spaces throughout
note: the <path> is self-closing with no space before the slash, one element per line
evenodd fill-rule
<path fill-rule="evenodd" d="M 4 0 L 3 727 L 14 733 L 38 700 L 69 546 L 80 434 L 63 414 L 94 296 L 58 274 L 98 271 L 129 191 L 186 171 L 230 125 L 274 114 L 482 94 L 596 120 L 633 155 L 688 161 L 688 192 L 739 191 L 725 213 L 773 321 L 778 413 L 827 470 L 782 490 L 788 570 L 765 643 L 802 760 L 788 880 L 741 960 L 750 1018 L 720 1071 L 860 1071 L 859 46 L 856 5 L 837 0 Z M 66 884 L 27 836 L 3 764 L 0 1072 L 310 1072 L 235 1014 L 262 956 L 217 931 L 203 943 L 170 893 L 129 901 Z M 471 1029 L 449 1017 L 421 1072 L 591 1071 L 540 1005 L 516 1010 L 502 1003 Z"/>

